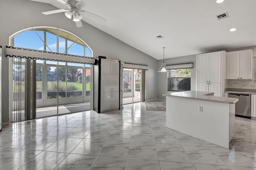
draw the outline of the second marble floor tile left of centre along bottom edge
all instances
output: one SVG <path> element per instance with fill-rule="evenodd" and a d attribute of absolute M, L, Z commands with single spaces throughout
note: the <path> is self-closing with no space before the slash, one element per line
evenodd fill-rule
<path fill-rule="evenodd" d="M 54 170 L 90 170 L 97 156 L 68 154 Z"/>

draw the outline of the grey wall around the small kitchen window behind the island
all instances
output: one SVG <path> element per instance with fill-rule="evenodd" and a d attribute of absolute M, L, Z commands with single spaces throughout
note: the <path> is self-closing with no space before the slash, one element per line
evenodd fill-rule
<path fill-rule="evenodd" d="M 161 67 L 163 60 L 158 60 L 157 68 Z M 193 63 L 193 69 L 191 69 L 191 90 L 196 90 L 196 55 L 187 55 L 182 57 L 174 57 L 165 59 L 164 62 L 167 64 L 177 64 L 177 63 Z M 157 73 L 157 89 L 158 89 L 158 99 L 166 99 L 162 94 L 171 93 L 175 91 L 167 91 L 167 73 Z"/>

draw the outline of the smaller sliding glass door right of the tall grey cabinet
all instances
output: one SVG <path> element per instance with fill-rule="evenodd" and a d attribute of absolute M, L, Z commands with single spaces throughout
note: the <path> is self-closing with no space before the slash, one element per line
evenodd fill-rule
<path fill-rule="evenodd" d="M 123 69 L 123 104 L 141 101 L 141 70 Z"/>

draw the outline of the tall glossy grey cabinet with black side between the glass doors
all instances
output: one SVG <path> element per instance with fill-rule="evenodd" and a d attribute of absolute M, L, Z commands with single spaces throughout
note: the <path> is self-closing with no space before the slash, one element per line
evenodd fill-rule
<path fill-rule="evenodd" d="M 94 65 L 94 110 L 120 109 L 120 61 L 96 59 Z"/>

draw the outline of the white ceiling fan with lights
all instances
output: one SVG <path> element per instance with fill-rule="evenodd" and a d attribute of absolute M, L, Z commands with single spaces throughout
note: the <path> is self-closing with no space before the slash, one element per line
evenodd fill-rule
<path fill-rule="evenodd" d="M 84 4 L 82 0 L 68 0 L 65 2 L 64 0 L 57 0 L 58 2 L 64 4 L 67 6 L 68 9 L 60 9 L 60 10 L 53 10 L 53 11 L 47 11 L 42 12 L 44 15 L 50 15 L 50 14 L 56 14 L 60 12 L 64 12 L 65 16 L 69 19 L 72 19 L 76 23 L 76 27 L 82 27 L 81 19 L 83 18 L 83 15 L 86 17 L 90 17 L 94 20 L 98 20 L 99 22 L 106 22 L 105 18 L 102 18 L 101 16 L 98 16 L 96 14 L 93 14 L 91 12 L 88 12 L 86 10 L 82 10 L 84 8 Z"/>

